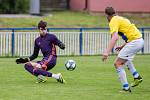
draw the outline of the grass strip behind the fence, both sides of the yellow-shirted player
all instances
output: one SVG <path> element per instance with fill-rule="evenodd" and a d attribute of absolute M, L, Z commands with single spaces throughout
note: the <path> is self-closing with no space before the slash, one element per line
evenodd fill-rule
<path fill-rule="evenodd" d="M 150 26 L 150 14 L 121 14 L 138 27 Z M 40 20 L 48 22 L 48 27 L 108 27 L 104 14 L 89 14 L 87 12 L 58 11 L 50 12 L 49 16 L 31 18 L 0 18 L 0 27 L 36 27 Z"/>

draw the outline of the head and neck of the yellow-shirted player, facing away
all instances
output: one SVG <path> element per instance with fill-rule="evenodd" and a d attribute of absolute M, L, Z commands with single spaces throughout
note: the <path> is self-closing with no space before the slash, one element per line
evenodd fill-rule
<path fill-rule="evenodd" d="M 112 16 L 114 16 L 116 14 L 116 11 L 113 7 L 106 7 L 105 14 L 107 15 L 108 21 L 110 21 Z"/>

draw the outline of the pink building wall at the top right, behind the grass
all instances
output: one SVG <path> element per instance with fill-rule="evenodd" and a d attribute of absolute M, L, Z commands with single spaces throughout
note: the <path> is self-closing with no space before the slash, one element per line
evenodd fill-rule
<path fill-rule="evenodd" d="M 150 12 L 150 0 L 70 0 L 70 9 L 103 12 L 112 6 L 119 12 Z"/>

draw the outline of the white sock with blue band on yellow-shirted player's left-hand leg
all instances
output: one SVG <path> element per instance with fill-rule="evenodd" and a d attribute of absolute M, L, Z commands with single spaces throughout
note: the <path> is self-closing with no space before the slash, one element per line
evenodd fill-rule
<path fill-rule="evenodd" d="M 116 69 L 116 71 L 117 71 L 119 79 L 122 83 L 123 89 L 128 90 L 129 89 L 129 84 L 128 84 L 128 81 L 127 81 L 126 72 L 125 72 L 124 68 L 119 67 L 119 68 Z"/>

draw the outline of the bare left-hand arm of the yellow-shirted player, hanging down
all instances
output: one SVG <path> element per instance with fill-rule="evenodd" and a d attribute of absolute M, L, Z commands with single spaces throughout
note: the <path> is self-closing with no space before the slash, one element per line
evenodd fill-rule
<path fill-rule="evenodd" d="M 118 36 L 118 33 L 117 32 L 114 32 L 112 34 L 112 38 L 108 44 L 108 47 L 107 49 L 104 51 L 103 53 L 103 57 L 102 57 L 102 60 L 105 61 L 107 58 L 108 58 L 108 55 L 109 53 L 111 52 L 111 50 L 113 49 L 113 47 L 115 46 L 116 44 L 116 41 L 119 39 L 119 36 Z"/>

